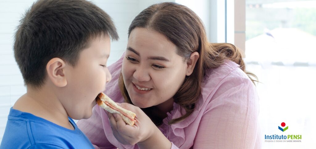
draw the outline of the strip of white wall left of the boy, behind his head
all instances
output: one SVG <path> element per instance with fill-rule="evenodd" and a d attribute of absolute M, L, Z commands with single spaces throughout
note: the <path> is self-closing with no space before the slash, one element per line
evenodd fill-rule
<path fill-rule="evenodd" d="M 33 0 L 2 0 L 0 4 L 0 140 L 10 107 L 26 92 L 13 57 L 13 37 L 21 14 Z"/>

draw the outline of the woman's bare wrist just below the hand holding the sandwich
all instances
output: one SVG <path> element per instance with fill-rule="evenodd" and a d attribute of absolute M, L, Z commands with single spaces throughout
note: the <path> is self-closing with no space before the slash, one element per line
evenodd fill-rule
<path fill-rule="evenodd" d="M 149 136 L 148 139 L 138 142 L 138 147 L 143 148 L 159 148 L 159 149 L 170 149 L 172 144 L 171 142 L 164 136 L 161 131 L 156 127 L 154 133 Z"/>

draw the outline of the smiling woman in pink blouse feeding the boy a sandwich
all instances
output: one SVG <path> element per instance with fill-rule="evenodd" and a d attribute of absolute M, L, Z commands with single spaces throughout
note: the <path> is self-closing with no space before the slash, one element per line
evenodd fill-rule
<path fill-rule="evenodd" d="M 137 126 L 95 106 L 78 126 L 96 148 L 260 148 L 247 74 L 256 76 L 234 45 L 208 43 L 202 21 L 177 3 L 143 10 L 128 35 L 105 93 L 136 113 Z"/>

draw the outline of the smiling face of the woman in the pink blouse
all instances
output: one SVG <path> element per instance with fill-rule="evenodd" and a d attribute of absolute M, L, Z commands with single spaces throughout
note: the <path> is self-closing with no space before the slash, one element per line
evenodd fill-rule
<path fill-rule="evenodd" d="M 172 97 L 182 85 L 187 69 L 176 48 L 156 31 L 139 27 L 131 31 L 122 74 L 135 106 L 146 108 L 173 103 Z"/>

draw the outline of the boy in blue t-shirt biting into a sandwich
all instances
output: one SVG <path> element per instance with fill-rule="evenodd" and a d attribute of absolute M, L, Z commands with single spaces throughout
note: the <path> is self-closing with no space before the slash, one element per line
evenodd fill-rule
<path fill-rule="evenodd" d="M 27 93 L 10 109 L 0 148 L 93 148 L 71 119 L 92 115 L 111 74 L 116 28 L 84 0 L 39 0 L 15 34 L 15 60 Z"/>

